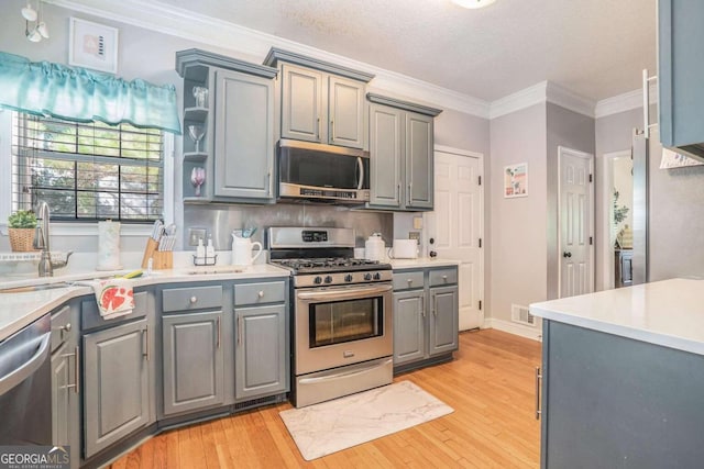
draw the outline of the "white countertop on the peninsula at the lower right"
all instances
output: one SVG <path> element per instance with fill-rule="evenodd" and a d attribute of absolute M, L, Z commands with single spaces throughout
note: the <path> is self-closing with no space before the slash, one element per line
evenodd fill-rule
<path fill-rule="evenodd" d="M 704 280 L 671 279 L 534 303 L 530 313 L 704 355 Z"/>

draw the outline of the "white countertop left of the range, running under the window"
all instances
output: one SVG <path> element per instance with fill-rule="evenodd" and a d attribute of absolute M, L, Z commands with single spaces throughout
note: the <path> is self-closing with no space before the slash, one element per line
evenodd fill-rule
<path fill-rule="evenodd" d="M 210 271 L 215 273 L 190 273 L 200 269 L 201 271 Z M 202 282 L 202 281 L 223 281 L 223 280 L 242 280 L 253 278 L 277 278 L 288 277 L 290 272 L 268 264 L 260 264 L 246 268 L 240 268 L 235 271 L 234 267 L 217 266 L 206 267 L 187 267 L 173 270 L 155 270 L 151 276 L 143 276 L 133 279 L 133 287 L 145 287 L 157 283 L 178 283 L 178 282 Z M 120 271 L 119 273 L 124 273 Z M 43 279 L 16 279 L 4 280 L 0 278 L 0 289 L 31 286 L 37 283 L 54 282 L 73 282 L 76 280 L 90 280 L 94 278 L 112 277 L 116 272 L 94 271 L 82 273 L 72 273 L 66 276 L 55 276 Z M 50 290 L 0 293 L 0 340 L 20 331 L 22 327 L 31 324 L 38 317 L 51 312 L 62 303 L 75 297 L 91 294 L 92 289 L 86 286 L 74 286 L 55 288 Z"/>

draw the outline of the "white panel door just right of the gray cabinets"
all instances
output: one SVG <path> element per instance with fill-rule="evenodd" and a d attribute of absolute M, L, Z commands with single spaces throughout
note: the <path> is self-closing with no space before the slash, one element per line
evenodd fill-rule
<path fill-rule="evenodd" d="M 481 327 L 484 316 L 482 155 L 453 149 L 435 152 L 435 212 L 428 213 L 429 249 L 459 266 L 460 331 Z"/>

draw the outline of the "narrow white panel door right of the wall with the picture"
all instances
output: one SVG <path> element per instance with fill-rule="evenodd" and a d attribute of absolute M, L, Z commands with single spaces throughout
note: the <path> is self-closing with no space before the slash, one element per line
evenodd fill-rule
<path fill-rule="evenodd" d="M 560 298 L 594 290 L 592 165 L 592 155 L 559 148 Z"/>

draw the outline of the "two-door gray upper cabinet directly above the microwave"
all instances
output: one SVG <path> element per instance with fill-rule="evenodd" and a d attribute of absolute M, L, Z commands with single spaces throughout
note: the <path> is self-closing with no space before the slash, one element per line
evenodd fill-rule
<path fill-rule="evenodd" d="M 366 148 L 366 83 L 373 75 L 272 48 L 280 69 L 280 136 Z"/>

